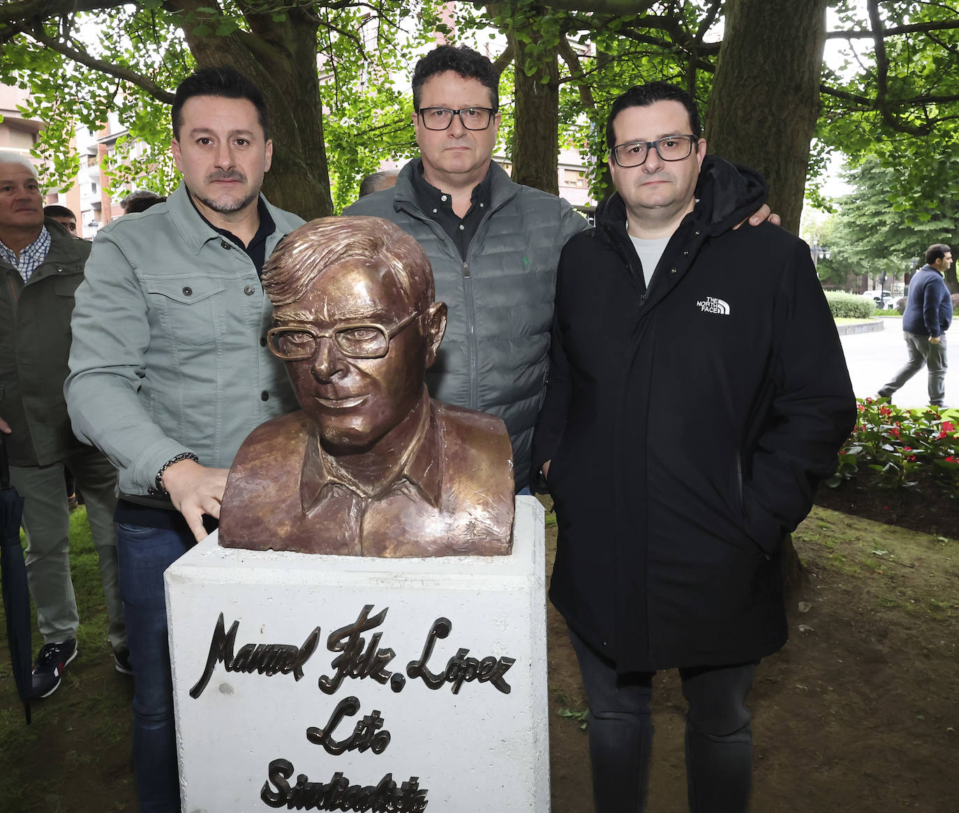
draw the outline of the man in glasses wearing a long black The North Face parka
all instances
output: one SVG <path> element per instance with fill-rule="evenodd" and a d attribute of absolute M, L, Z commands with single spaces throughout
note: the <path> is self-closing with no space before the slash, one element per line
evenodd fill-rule
<path fill-rule="evenodd" d="M 781 546 L 853 429 L 806 244 L 734 230 L 766 193 L 713 163 L 685 91 L 634 87 L 607 126 L 617 193 L 566 244 L 533 445 L 559 523 L 550 599 L 590 702 L 596 810 L 643 810 L 650 685 L 678 667 L 694 813 L 745 811 L 744 701 L 786 639 Z"/>

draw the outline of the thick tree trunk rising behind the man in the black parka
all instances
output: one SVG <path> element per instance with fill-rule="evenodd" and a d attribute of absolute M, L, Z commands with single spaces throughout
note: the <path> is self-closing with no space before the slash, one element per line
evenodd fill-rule
<path fill-rule="evenodd" d="M 709 151 L 769 181 L 769 205 L 799 233 L 819 116 L 827 0 L 729 0 L 707 111 Z"/>

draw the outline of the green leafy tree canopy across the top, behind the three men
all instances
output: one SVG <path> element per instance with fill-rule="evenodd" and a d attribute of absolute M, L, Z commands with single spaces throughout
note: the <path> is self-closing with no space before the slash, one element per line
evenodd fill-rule
<path fill-rule="evenodd" d="M 612 99 L 629 85 L 679 82 L 710 122 L 713 76 L 725 70 L 731 92 L 749 88 L 749 98 L 739 100 L 744 120 L 750 103 L 757 111 L 782 110 L 777 94 L 785 95 L 789 60 L 805 59 L 817 70 L 822 39 L 839 39 L 846 43 L 846 64 L 821 68 L 818 98 L 793 103 L 794 116 L 777 112 L 778 128 L 754 127 L 756 138 L 737 160 L 771 172 L 782 160 L 776 151 L 787 149 L 784 131 L 805 132 L 798 122 L 808 109 L 817 122 L 813 175 L 822 173 L 830 149 L 854 161 L 874 156 L 879 166 L 899 168 L 886 190 L 890 205 L 907 219 L 931 217 L 938 198 L 948 194 L 939 178 L 959 165 L 959 5 L 816 0 L 801 19 L 786 12 L 807 4 L 761 0 L 772 10 L 778 38 L 795 43 L 791 53 L 764 53 L 763 32 L 737 30 L 731 16 L 758 13 L 758 2 L 477 2 L 457 4 L 448 31 L 433 0 L 11 0 L 0 6 L 0 81 L 30 90 L 30 114 L 48 124 L 39 150 L 52 161 L 50 182 L 63 183 L 75 171 L 76 156 L 67 149 L 73 122 L 96 128 L 113 113 L 133 138 L 152 146 L 113 171 L 118 177 L 149 172 L 152 186 L 165 189 L 173 177 L 162 157 L 172 90 L 197 65 L 233 64 L 264 87 L 268 99 L 277 150 L 267 193 L 309 217 L 339 210 L 382 159 L 413 153 L 410 60 L 437 32 L 454 41 L 501 35 L 493 56 L 499 67 L 510 65 L 505 76 L 515 81 L 515 109 L 523 112 L 516 126 L 512 111 L 504 110 L 514 176 L 555 191 L 556 146 L 569 144 L 590 156 L 598 194 L 601 125 Z M 833 30 L 826 30 L 822 5 L 835 13 Z M 790 38 L 789 27 L 799 25 L 821 27 L 820 36 Z M 726 68 L 724 37 L 739 51 Z M 801 143 L 804 132 L 796 135 Z M 711 137 L 729 144 L 719 131 Z M 798 186 L 789 174 L 777 184 L 801 199 L 805 164 L 789 172 Z"/>

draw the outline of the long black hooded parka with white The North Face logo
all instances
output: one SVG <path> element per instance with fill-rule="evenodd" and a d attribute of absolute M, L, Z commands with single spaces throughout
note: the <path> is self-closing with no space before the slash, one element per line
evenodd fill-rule
<path fill-rule="evenodd" d="M 648 290 L 618 194 L 558 269 L 533 445 L 559 525 L 550 599 L 620 672 L 783 646 L 782 542 L 855 420 L 807 244 L 733 230 L 761 178 L 713 160 L 696 197 Z"/>

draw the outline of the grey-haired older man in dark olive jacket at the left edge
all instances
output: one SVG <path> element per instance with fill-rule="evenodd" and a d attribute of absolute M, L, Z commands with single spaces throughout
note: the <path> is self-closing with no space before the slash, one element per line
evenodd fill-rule
<path fill-rule="evenodd" d="M 12 483 L 24 498 L 27 581 L 44 640 L 34 667 L 35 697 L 56 691 L 77 657 L 80 616 L 70 578 L 64 466 L 86 501 L 114 663 L 130 674 L 117 584 L 116 471 L 104 454 L 74 437 L 63 399 L 74 291 L 89 253 L 90 244 L 44 218 L 33 164 L 0 152 L 0 431 L 7 435 Z"/>

